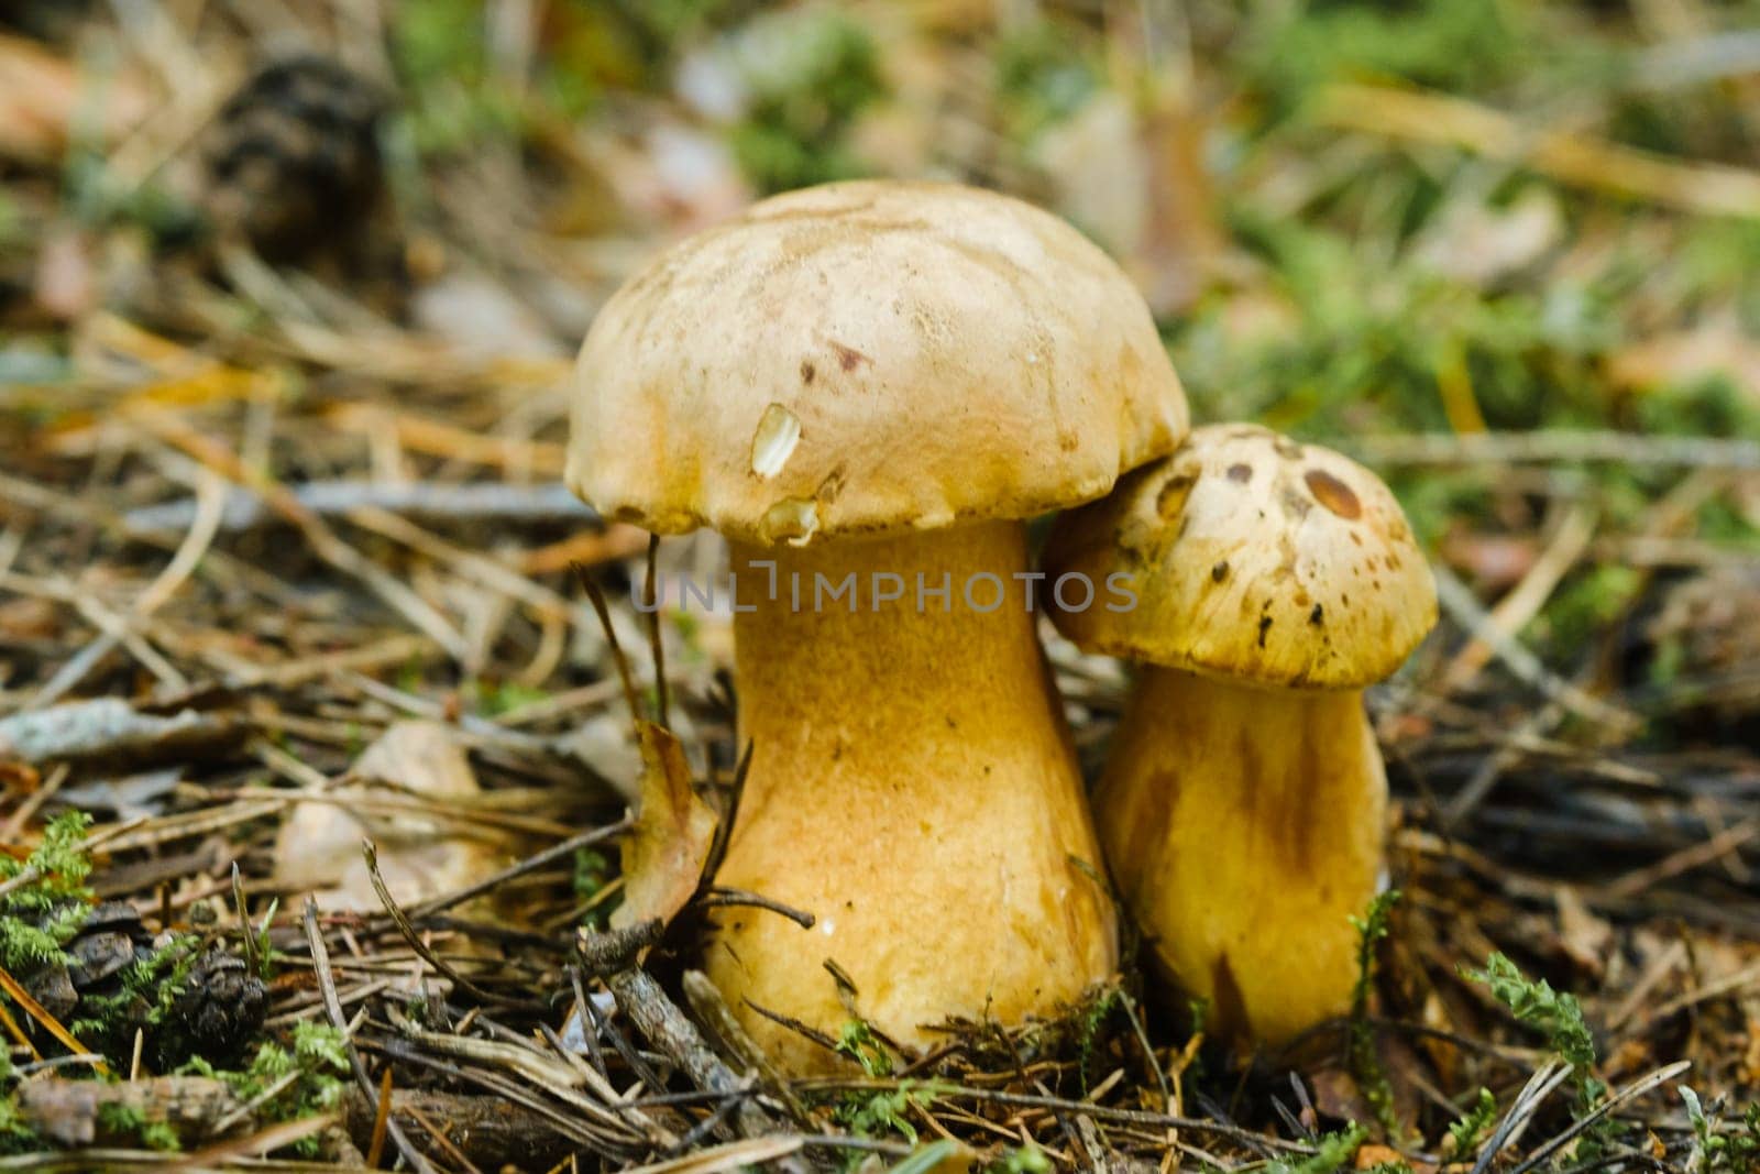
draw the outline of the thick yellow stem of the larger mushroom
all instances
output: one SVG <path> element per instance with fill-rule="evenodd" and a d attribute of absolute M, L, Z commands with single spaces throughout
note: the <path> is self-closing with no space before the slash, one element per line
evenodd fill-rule
<path fill-rule="evenodd" d="M 766 560 L 774 600 L 753 565 Z M 718 882 L 818 921 L 723 910 L 708 970 L 794 1070 L 836 1061 L 744 1002 L 836 1035 L 850 1016 L 827 959 L 854 980 L 857 1010 L 913 1047 L 950 1016 L 1051 1016 L 1114 966 L 1111 906 L 1082 869 L 1100 857 L 1081 780 L 1014 577 L 1024 569 L 1019 523 L 734 547 L 739 604 L 755 607 L 734 623 L 753 759 Z M 945 605 L 926 595 L 919 609 L 919 572 L 931 591 L 945 576 Z M 850 574 L 855 613 L 848 597 L 815 597 Z M 876 600 L 875 576 L 903 597 Z"/>

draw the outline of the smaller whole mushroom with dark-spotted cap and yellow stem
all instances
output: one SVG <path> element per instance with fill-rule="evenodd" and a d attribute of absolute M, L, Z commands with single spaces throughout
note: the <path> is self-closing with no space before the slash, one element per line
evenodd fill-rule
<path fill-rule="evenodd" d="M 1095 818 L 1160 963 L 1241 1038 L 1345 1010 L 1387 806 L 1362 688 L 1436 623 L 1392 493 L 1327 449 L 1199 428 L 1065 514 L 1045 570 L 1130 576 L 1133 607 L 1052 618 L 1144 662 Z"/>

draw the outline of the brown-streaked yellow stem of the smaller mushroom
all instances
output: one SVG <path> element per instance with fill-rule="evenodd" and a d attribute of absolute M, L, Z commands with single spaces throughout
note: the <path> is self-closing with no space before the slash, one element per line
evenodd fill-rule
<path fill-rule="evenodd" d="M 1348 1009 L 1387 778 L 1357 692 L 1144 667 L 1095 792 L 1125 905 L 1216 1030 L 1283 1044 Z"/>

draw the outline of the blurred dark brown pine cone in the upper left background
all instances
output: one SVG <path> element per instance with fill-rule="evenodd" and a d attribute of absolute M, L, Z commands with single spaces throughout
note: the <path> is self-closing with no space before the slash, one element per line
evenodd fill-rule
<path fill-rule="evenodd" d="M 209 211 L 269 260 L 299 260 L 371 220 L 384 192 L 384 102 L 322 56 L 257 70 L 220 111 Z"/>

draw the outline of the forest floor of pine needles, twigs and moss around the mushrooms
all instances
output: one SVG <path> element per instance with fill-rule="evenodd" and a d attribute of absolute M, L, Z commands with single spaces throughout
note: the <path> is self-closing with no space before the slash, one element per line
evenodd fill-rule
<path fill-rule="evenodd" d="M 1755 4 L 0 23 L 0 1170 L 1760 1169 Z M 1246 1054 L 1132 956 L 748 1081 L 715 894 L 607 931 L 630 704 L 739 755 L 727 618 L 630 605 L 716 540 L 560 488 L 570 356 L 854 174 L 1061 211 L 1195 419 L 1399 493 L 1443 620 L 1348 1019 Z M 1093 767 L 1126 678 L 1045 634 Z"/>

